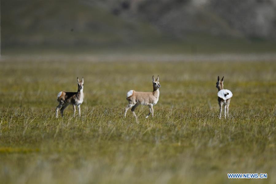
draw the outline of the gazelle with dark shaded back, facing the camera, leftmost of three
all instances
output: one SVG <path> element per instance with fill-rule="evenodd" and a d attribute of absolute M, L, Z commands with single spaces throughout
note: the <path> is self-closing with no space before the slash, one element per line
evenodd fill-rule
<path fill-rule="evenodd" d="M 72 104 L 74 108 L 74 116 L 76 114 L 76 106 L 79 110 L 80 116 L 80 104 L 84 101 L 84 78 L 79 80 L 77 77 L 78 82 L 78 92 L 65 92 L 61 91 L 57 95 L 57 101 L 59 102 L 58 106 L 56 107 L 56 118 L 58 117 L 58 110 L 60 109 L 61 116 L 63 116 L 64 109 L 69 105 Z"/>

